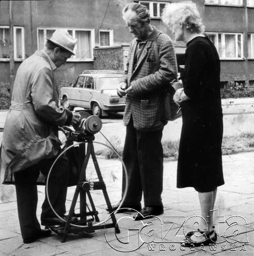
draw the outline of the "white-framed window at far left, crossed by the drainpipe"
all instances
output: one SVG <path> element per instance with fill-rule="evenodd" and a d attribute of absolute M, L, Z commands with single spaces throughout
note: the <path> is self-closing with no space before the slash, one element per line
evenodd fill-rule
<path fill-rule="evenodd" d="M 24 28 L 13 28 L 14 59 L 25 59 Z M 9 26 L 0 26 L 0 59 L 10 59 L 10 30 Z"/>

